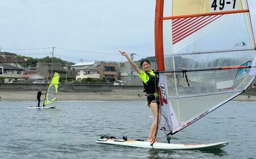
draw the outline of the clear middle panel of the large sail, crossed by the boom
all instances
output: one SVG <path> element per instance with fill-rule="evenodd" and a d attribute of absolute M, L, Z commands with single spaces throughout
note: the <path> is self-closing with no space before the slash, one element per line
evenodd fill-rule
<path fill-rule="evenodd" d="M 203 69 L 218 66 L 240 66 L 253 60 L 253 52 L 230 51 L 170 56 L 165 57 L 164 62 L 167 71 L 180 70 L 181 68 Z M 187 72 L 190 86 L 188 86 L 186 79 L 183 78 L 183 73 L 169 73 L 166 75 L 168 95 L 174 97 L 178 95 L 212 94 L 222 93 L 223 91 L 243 90 L 248 85 L 248 82 L 254 78 L 253 76 L 242 76 L 249 73 L 249 69 L 243 70 L 246 70 L 246 72 L 241 72 L 238 69 Z M 225 89 L 217 87 L 220 82 L 225 81 L 233 81 L 233 85 L 227 86 Z"/>

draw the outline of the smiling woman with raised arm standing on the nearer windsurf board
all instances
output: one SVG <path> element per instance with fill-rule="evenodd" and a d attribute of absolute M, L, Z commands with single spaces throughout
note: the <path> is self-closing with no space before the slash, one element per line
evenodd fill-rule
<path fill-rule="evenodd" d="M 160 122 L 161 117 L 161 107 L 158 104 L 158 81 L 155 81 L 155 73 L 153 70 L 151 70 L 150 62 L 148 60 L 142 60 L 141 61 L 141 69 L 138 68 L 138 66 L 135 64 L 133 60 L 127 55 L 126 52 L 119 51 L 121 55 L 125 56 L 127 60 L 130 62 L 130 64 L 134 67 L 136 72 L 138 73 L 138 76 L 143 81 L 144 89 L 147 93 L 147 103 L 148 106 L 151 108 L 151 111 L 154 115 L 154 122 L 151 125 L 150 133 L 148 135 L 147 141 L 148 142 L 158 142 L 156 136 L 157 136 L 157 129 L 158 124 Z"/>

